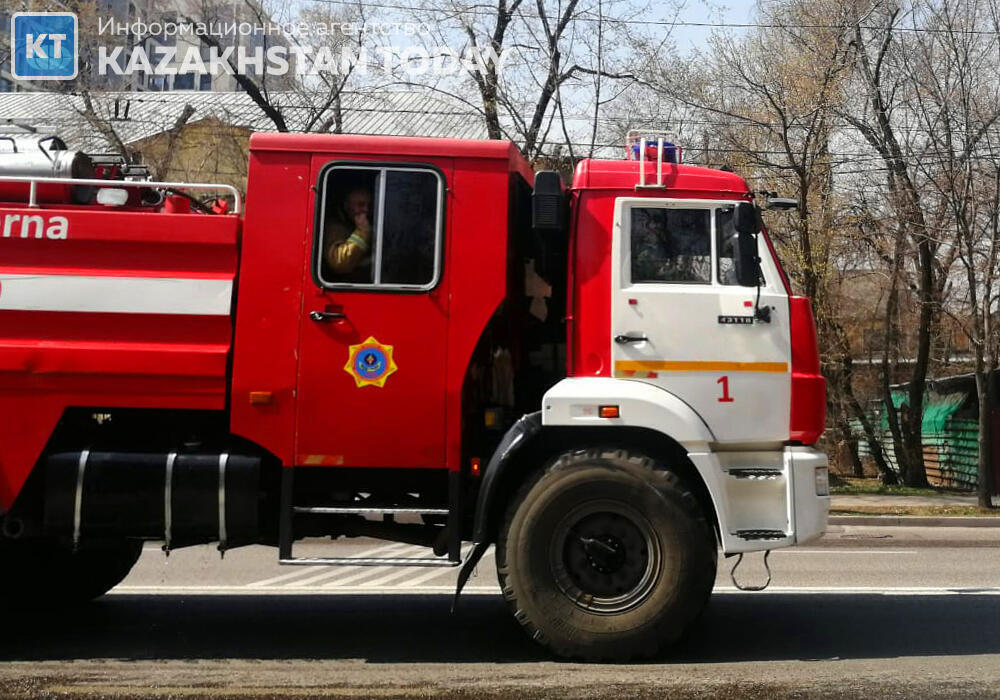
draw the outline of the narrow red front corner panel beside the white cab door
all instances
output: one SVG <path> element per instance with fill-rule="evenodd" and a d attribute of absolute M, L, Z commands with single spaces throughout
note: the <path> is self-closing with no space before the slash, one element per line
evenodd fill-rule
<path fill-rule="evenodd" d="M 826 379 L 820 373 L 819 345 L 806 297 L 788 298 L 792 336 L 792 412 L 789 439 L 814 445 L 826 427 Z"/>

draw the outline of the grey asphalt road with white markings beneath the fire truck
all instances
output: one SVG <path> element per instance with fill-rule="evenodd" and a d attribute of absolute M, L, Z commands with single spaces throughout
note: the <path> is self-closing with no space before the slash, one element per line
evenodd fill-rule
<path fill-rule="evenodd" d="M 692 637 L 632 665 L 548 658 L 511 618 L 489 560 L 451 615 L 451 570 L 275 559 L 245 548 L 220 561 L 208 547 L 165 559 L 149 546 L 90 606 L 15 607 L 0 695 L 1000 698 L 1000 528 L 835 528 L 774 553 L 764 593 L 733 588 L 730 560 Z M 746 566 L 759 582 L 759 557 Z"/>

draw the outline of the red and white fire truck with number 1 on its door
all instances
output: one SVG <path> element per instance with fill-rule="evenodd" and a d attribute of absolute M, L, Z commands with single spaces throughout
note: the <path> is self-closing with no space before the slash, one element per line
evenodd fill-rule
<path fill-rule="evenodd" d="M 9 603 L 101 595 L 144 540 L 454 566 L 459 590 L 495 546 L 531 637 L 625 659 L 690 628 L 718 551 L 824 531 L 809 302 L 746 182 L 662 136 L 565 187 L 503 141 L 255 134 L 245 211 L 11 144 Z M 427 553 L 293 551 L 357 536 Z"/>

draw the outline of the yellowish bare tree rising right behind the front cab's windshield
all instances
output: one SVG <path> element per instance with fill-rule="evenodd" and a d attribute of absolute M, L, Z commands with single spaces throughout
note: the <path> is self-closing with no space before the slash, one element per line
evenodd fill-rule
<path fill-rule="evenodd" d="M 762 4 L 758 19 L 762 26 L 745 36 L 716 34 L 707 52 L 686 64 L 664 57 L 649 82 L 698 115 L 703 162 L 721 161 L 760 191 L 797 194 L 795 217 L 775 222 L 772 234 L 816 310 L 833 430 L 857 473 L 850 420 L 859 421 L 883 480 L 892 482 L 874 426 L 854 393 L 850 335 L 834 284 L 845 224 L 831 144 L 834 110 L 844 103 L 851 65 L 847 16 L 838 2 L 782 0 Z"/>

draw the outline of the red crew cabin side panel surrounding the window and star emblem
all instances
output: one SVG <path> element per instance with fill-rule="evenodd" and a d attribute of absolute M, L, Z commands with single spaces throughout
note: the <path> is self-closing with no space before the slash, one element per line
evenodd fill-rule
<path fill-rule="evenodd" d="M 443 175 L 445 247 L 433 289 L 318 283 L 313 188 L 330 164 L 433 167 Z M 234 432 L 285 465 L 459 468 L 462 383 L 506 293 L 511 172 L 533 180 L 505 142 L 255 135 L 236 322 Z M 343 318 L 317 322 L 314 311 Z M 381 386 L 359 385 L 345 370 L 352 347 L 369 338 L 392 348 L 396 369 Z"/>

